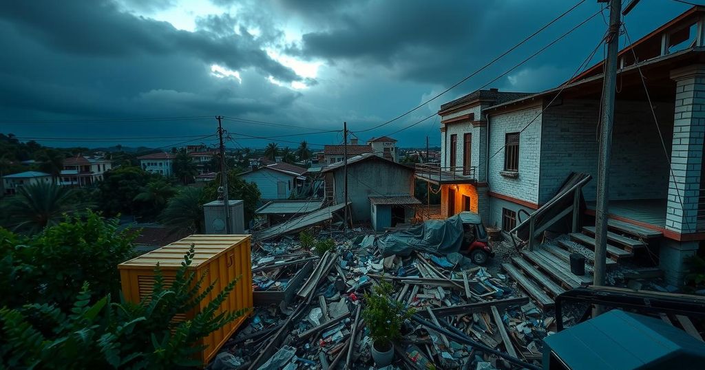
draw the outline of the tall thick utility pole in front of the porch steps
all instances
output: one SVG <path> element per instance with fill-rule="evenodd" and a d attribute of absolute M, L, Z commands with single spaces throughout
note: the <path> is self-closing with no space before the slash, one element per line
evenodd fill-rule
<path fill-rule="evenodd" d="M 599 155 L 597 159 L 597 204 L 595 209 L 595 266 L 593 285 L 605 285 L 605 259 L 607 258 L 607 215 L 609 202 L 609 171 L 612 148 L 612 130 L 615 111 L 615 82 L 617 80 L 617 53 L 619 30 L 622 25 L 621 0 L 610 0 L 610 25 L 605 42 L 607 58 L 602 84 L 602 116 L 600 118 Z M 601 314 L 596 306 L 593 317 Z"/>

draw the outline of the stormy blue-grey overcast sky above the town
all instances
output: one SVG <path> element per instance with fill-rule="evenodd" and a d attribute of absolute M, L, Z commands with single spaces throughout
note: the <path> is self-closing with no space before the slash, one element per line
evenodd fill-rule
<path fill-rule="evenodd" d="M 595 0 L 584 1 L 439 99 L 398 121 L 359 132 L 445 90 L 576 3 L 0 0 L 0 132 L 111 139 L 80 142 L 89 147 L 157 146 L 211 135 L 214 116 L 222 115 L 305 127 L 226 120 L 234 140 L 228 147 L 275 141 L 252 136 L 276 136 L 281 147 L 296 147 L 304 139 L 340 143 L 337 132 L 296 134 L 340 130 L 343 121 L 367 140 L 405 128 L 438 111 L 440 104 L 482 87 L 601 7 Z M 688 8 L 675 1 L 645 0 L 625 24 L 637 39 Z M 594 49 L 607 16 L 606 11 L 596 16 L 488 87 L 520 92 L 555 87 Z M 601 49 L 594 62 L 602 56 Z M 159 120 L 124 120 L 145 117 Z M 412 147 L 422 146 L 427 135 L 431 145 L 440 144 L 437 116 L 393 137 L 400 146 Z"/>

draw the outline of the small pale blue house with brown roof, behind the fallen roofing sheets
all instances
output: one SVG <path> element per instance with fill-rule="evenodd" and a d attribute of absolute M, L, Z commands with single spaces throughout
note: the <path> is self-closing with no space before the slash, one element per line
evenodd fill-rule
<path fill-rule="evenodd" d="M 291 192 L 306 180 L 306 168 L 283 162 L 263 161 L 262 164 L 264 166 L 240 174 L 248 183 L 257 184 L 261 199 L 288 199 Z"/>

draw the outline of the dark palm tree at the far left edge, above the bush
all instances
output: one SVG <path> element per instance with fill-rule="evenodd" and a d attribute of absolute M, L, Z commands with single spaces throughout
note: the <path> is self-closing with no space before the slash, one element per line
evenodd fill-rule
<path fill-rule="evenodd" d="M 80 209 L 80 199 L 69 187 L 55 183 L 24 185 L 5 204 L 3 223 L 8 228 L 34 234 L 63 220 L 63 214 Z"/>

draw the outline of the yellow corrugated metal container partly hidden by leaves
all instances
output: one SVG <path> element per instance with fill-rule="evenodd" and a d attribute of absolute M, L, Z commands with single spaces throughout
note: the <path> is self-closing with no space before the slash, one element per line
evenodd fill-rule
<path fill-rule="evenodd" d="M 173 242 L 140 257 L 130 259 L 118 265 L 125 300 L 140 302 L 149 297 L 154 284 L 154 267 L 159 262 L 164 281 L 173 281 L 176 270 L 181 266 L 183 256 L 191 243 L 195 245 L 195 257 L 189 266 L 195 271 L 196 280 L 206 275 L 201 291 L 210 284 L 215 288 L 210 292 L 200 307 L 185 315 L 185 319 L 194 316 L 197 310 L 204 309 L 214 300 L 221 290 L 234 278 L 240 276 L 235 289 L 221 305 L 221 310 L 233 312 L 243 308 L 252 309 L 252 261 L 250 260 L 250 235 L 191 235 L 178 242 Z M 222 312 L 222 311 L 221 311 Z M 221 345 L 233 335 L 240 324 L 245 321 L 243 315 L 218 331 L 202 339 L 207 347 L 201 353 L 203 364 L 207 364 L 218 352 Z"/>

